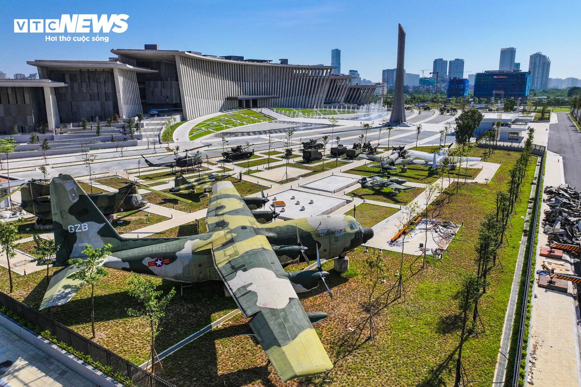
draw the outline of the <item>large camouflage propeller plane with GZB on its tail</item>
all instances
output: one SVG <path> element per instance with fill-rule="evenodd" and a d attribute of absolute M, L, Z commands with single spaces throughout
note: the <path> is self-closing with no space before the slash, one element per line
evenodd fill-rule
<path fill-rule="evenodd" d="M 373 236 L 348 215 L 319 215 L 261 225 L 231 182 L 214 184 L 207 209 L 209 232 L 177 238 L 122 238 L 71 176 L 51 182 L 57 266 L 83 258 L 88 244 L 112 244 L 104 267 L 187 283 L 222 280 L 283 381 L 333 367 L 297 292 L 316 287 L 328 274 L 322 258 L 334 258 Z M 285 272 L 297 256 L 317 259 L 317 269 Z M 62 305 L 78 291 L 67 279 L 78 269 L 53 274 L 41 309 Z M 327 285 L 325 283 L 325 285 Z M 330 293 L 330 291 L 329 291 Z"/>

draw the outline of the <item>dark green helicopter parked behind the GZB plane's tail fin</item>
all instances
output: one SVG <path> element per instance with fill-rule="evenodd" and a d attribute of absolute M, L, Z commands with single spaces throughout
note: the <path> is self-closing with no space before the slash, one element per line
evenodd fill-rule
<path fill-rule="evenodd" d="M 11 196 L 17 191 L 20 191 L 20 207 L 37 216 L 38 224 L 50 224 L 52 222 L 51 194 L 49 184 L 45 183 L 45 181 L 46 180 L 40 179 L 28 180 L 28 182 L 24 183 L 16 190 L 0 198 L 0 201 L 5 200 L 5 198 Z M 139 194 L 139 189 L 152 191 L 172 199 L 191 202 L 191 200 L 186 200 L 175 195 L 157 191 L 137 182 L 129 182 L 120 187 L 116 192 L 88 194 L 88 197 L 95 203 L 103 215 L 110 216 L 117 214 L 117 212 L 135 211 L 144 208 L 148 204 L 148 201 Z"/>

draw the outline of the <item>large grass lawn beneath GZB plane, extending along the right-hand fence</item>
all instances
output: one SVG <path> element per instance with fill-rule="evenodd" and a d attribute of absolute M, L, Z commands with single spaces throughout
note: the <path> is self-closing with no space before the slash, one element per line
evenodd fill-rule
<path fill-rule="evenodd" d="M 404 284 L 406 299 L 394 299 L 392 286 L 397 277 L 400 255 L 383 251 L 386 267 L 385 282 L 379 284 L 375 299 L 376 343 L 368 337 L 366 312 L 361 306 L 366 300 L 363 248 L 349 254 L 350 270 L 338 274 L 333 263 L 324 263 L 330 272 L 327 283 L 333 291 L 329 299 L 324 287 L 299 294 L 307 312 L 328 313 L 327 319 L 315 325 L 321 341 L 333 361 L 334 368 L 322 375 L 295 379 L 283 384 L 275 375 L 266 355 L 256 340 L 241 334 L 248 325 L 241 316 L 216 328 L 202 338 L 185 346 L 163 361 L 163 378 L 179 386 L 195 385 L 252 385 L 252 386 L 450 386 L 460 335 L 460 317 L 456 293 L 461 277 L 475 272 L 474 251 L 480 220 L 494 211 L 498 190 L 507 189 L 508 171 L 519 153 L 496 151 L 503 164 L 497 178 L 487 185 L 468 183 L 451 204 L 443 207 L 440 220 L 464 222 L 451 242 L 443 259 L 419 271 L 421 262 L 410 264 L 417 257 L 404 256 Z M 533 158 L 534 159 L 534 158 Z M 531 164 L 516 204 L 507 232 L 507 243 L 500 250 L 503 268 L 492 270 L 487 292 L 479 303 L 480 316 L 486 330 L 465 341 L 463 361 L 468 378 L 490 384 L 500 345 L 504 313 L 514 275 L 524 220 L 535 165 Z M 363 216 L 361 214 L 361 216 Z M 370 253 L 375 249 L 370 249 Z M 51 269 L 53 273 L 55 269 Z M 95 287 L 96 341 L 121 356 L 139 364 L 148 352 L 148 331 L 144 318 L 129 317 L 127 308 L 137 308 L 127 294 L 125 280 L 128 273 L 109 270 Z M 38 308 L 46 281 L 44 271 L 14 275 L 14 296 L 19 301 Z M 159 290 L 167 292 L 179 285 L 155 279 Z M 8 288 L 6 269 L 0 267 L 0 289 Z M 90 335 L 90 288 L 84 287 L 71 302 L 43 310 L 74 330 Z M 217 316 L 235 309 L 231 298 L 224 297 L 223 284 L 209 281 L 184 289 L 184 296 L 176 295 L 161 322 L 157 338 L 158 352 L 215 320 Z M 350 330 L 349 328 L 352 328 Z M 195 380 L 195 381 L 194 381 Z"/>

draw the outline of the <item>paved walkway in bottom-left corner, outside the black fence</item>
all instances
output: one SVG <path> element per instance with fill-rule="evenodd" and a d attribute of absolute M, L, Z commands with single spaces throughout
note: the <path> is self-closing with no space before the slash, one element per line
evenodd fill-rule
<path fill-rule="evenodd" d="M 0 375 L 0 386 L 8 387 L 92 387 L 69 367 L 46 355 L 0 325 L 0 363 L 12 361 Z"/>

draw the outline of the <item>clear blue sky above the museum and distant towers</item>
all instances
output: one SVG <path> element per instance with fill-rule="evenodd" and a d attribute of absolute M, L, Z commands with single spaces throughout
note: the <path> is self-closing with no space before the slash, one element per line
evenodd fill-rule
<path fill-rule="evenodd" d="M 126 13 L 123 34 L 106 42 L 45 42 L 45 34 L 15 34 L 13 19 L 58 19 L 61 14 Z M 2 3 L 0 71 L 35 73 L 27 60 L 106 60 L 112 48 L 195 50 L 210 55 L 288 58 L 331 64 L 379 81 L 395 67 L 397 23 L 407 32 L 406 71 L 420 73 L 435 58 L 463 58 L 465 71 L 498 68 L 500 48 L 517 48 L 528 69 L 537 51 L 551 59 L 553 78 L 581 78 L 581 2 L 569 1 L 28 1 Z M 59 35 L 59 34 L 56 34 Z"/>

